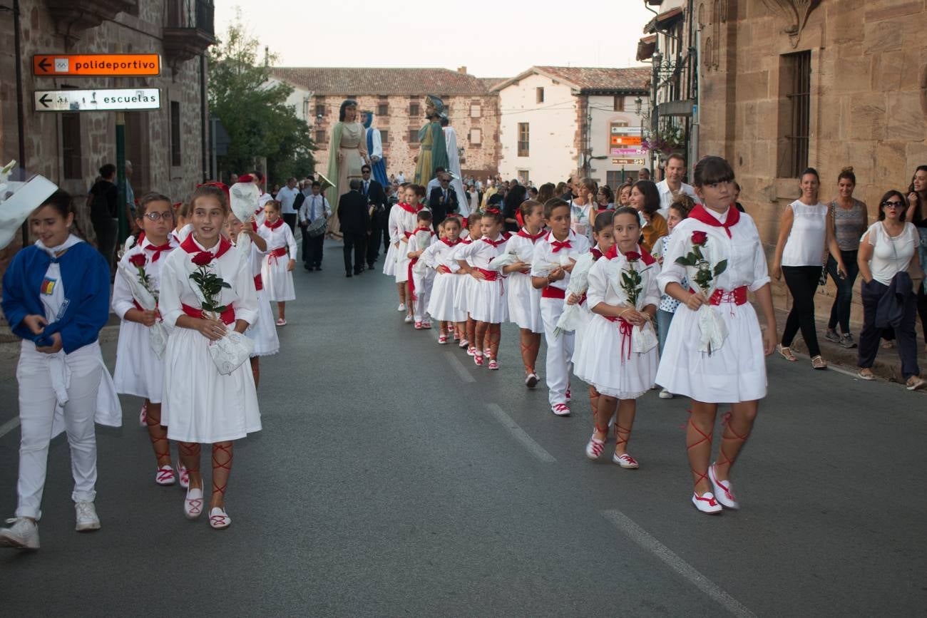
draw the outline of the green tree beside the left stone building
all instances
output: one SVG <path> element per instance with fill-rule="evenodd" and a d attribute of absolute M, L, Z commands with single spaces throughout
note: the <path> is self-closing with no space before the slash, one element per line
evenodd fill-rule
<path fill-rule="evenodd" d="M 219 167 L 246 172 L 254 169 L 255 158 L 266 157 L 269 183 L 283 183 L 315 170 L 315 146 L 309 126 L 286 105 L 293 88 L 270 82 L 268 67 L 276 57 L 267 54 L 260 61 L 259 47 L 239 13 L 210 48 L 210 115 L 229 136 L 228 154 L 219 158 Z"/>

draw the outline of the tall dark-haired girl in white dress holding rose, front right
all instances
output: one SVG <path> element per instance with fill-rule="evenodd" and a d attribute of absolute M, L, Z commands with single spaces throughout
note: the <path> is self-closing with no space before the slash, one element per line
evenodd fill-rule
<path fill-rule="evenodd" d="M 730 467 L 753 428 L 759 399 L 766 397 L 766 359 L 776 348 L 776 318 L 772 312 L 766 254 L 750 215 L 734 208 L 734 172 L 726 160 L 705 157 L 695 166 L 695 192 L 702 200 L 680 221 L 669 240 L 659 283 L 664 293 L 679 300 L 656 373 L 656 383 L 670 393 L 692 397 L 692 414 L 686 429 L 694 493 L 692 504 L 702 512 L 717 513 L 722 505 L 738 504 L 730 486 Z M 677 263 L 698 243 L 714 270 L 727 260 L 724 271 L 713 275 L 706 297 L 683 287 L 696 281 L 695 270 Z M 691 271 L 691 272 L 687 272 Z M 766 317 L 760 332 L 747 292 L 753 292 Z M 712 311 L 713 322 L 724 322 L 728 336 L 717 345 L 702 343 L 701 312 Z M 706 314 L 706 317 L 711 317 Z M 708 334 L 711 334 L 709 331 Z M 717 331 L 714 333 L 717 334 Z M 709 467 L 718 403 L 730 403 L 718 460 Z"/>

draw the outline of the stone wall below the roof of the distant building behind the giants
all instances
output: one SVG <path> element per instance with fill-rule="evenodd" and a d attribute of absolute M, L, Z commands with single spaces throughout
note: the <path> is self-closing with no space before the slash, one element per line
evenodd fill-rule
<path fill-rule="evenodd" d="M 315 120 L 311 127 L 314 132 L 324 131 L 324 142 L 316 141 L 319 148 L 315 153 L 316 170 L 328 167 L 328 141 L 331 139 L 331 128 L 338 121 L 338 107 L 345 99 L 345 95 L 325 95 L 312 98 L 312 106 L 324 105 L 325 114 L 322 120 Z M 425 96 L 389 95 L 382 99 L 376 95 L 358 95 L 359 109 L 371 109 L 376 114 L 379 105 L 386 103 L 388 115 L 375 115 L 374 126 L 380 131 L 387 132 L 387 139 L 383 144 L 383 155 L 387 159 L 387 175 L 405 175 L 411 181 L 415 173 L 413 158 L 418 156 L 418 144 L 410 143 L 410 131 L 418 132 L 425 125 Z M 489 95 L 450 96 L 444 100 L 450 106 L 451 126 L 457 132 L 457 145 L 464 148 L 461 158 L 461 170 L 464 175 L 473 174 L 479 177 L 494 175 L 499 169 L 499 97 Z M 418 103 L 420 113 L 415 118 L 409 114 L 413 103 Z M 471 106 L 479 107 L 479 115 L 471 115 Z M 471 129 L 479 129 L 482 133 L 479 144 L 471 144 L 469 134 Z M 276 181 L 274 181 L 276 182 Z"/>

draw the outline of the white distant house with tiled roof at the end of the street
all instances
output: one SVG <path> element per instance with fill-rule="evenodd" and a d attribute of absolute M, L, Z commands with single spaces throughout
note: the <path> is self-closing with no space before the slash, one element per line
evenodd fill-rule
<path fill-rule="evenodd" d="M 650 81 L 649 67 L 531 67 L 497 83 L 502 177 L 539 185 L 578 174 L 613 188 L 636 178 Z"/>

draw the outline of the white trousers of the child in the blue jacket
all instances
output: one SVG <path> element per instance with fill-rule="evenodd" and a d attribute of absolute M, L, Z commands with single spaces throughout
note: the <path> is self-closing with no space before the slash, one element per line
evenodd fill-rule
<path fill-rule="evenodd" d="M 70 470 L 75 502 L 96 498 L 96 396 L 103 367 L 81 350 L 65 357 L 70 370 L 68 401 L 64 405 L 65 431 L 70 445 Z M 98 355 L 98 352 L 97 352 Z M 42 352 L 23 349 L 16 376 L 19 381 L 19 506 L 17 517 L 42 517 L 42 493 L 48 466 L 48 446 L 54 437 L 57 396 Z M 73 358 L 71 358 L 73 357 Z"/>

